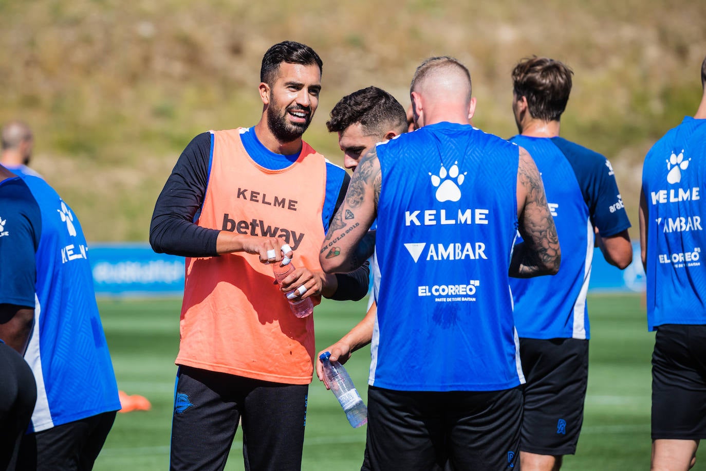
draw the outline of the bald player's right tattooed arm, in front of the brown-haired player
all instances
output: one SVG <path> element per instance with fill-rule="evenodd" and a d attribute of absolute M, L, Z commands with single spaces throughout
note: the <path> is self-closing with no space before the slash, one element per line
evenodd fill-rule
<path fill-rule="evenodd" d="M 520 148 L 520 165 L 517 167 L 517 222 L 524 242 L 515 245 L 510 276 L 555 275 L 561 262 L 561 249 L 554 219 L 546 205 L 537 165 L 523 148 Z"/>

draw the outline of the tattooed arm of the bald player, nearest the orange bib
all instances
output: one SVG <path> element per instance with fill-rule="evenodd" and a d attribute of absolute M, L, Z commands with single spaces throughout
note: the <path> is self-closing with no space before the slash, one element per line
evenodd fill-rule
<path fill-rule="evenodd" d="M 353 173 L 345 201 L 333 217 L 321 246 L 318 258 L 325 272 L 352 271 L 371 256 L 375 239 L 368 229 L 377 214 L 381 181 L 380 162 L 373 148 Z"/>

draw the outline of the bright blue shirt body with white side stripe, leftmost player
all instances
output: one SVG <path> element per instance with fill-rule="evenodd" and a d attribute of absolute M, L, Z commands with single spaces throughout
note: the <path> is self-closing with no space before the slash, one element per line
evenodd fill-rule
<path fill-rule="evenodd" d="M 42 431 L 119 410 L 120 401 L 78 219 L 46 181 L 23 179 L 42 213 L 35 326 L 25 352 L 37 381 L 30 430 Z"/>

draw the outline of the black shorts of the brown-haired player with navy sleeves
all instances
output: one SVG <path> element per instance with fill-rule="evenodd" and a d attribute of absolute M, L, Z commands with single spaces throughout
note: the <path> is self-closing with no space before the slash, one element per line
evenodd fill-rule
<path fill-rule="evenodd" d="M 583 424 L 588 340 L 520 338 L 525 416 L 520 450 L 573 455 Z"/>

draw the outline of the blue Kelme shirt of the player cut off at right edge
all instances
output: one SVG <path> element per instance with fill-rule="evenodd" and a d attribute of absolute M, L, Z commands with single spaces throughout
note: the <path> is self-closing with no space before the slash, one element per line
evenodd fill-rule
<path fill-rule="evenodd" d="M 686 117 L 642 167 L 647 201 L 647 326 L 706 324 L 706 119 Z"/>

